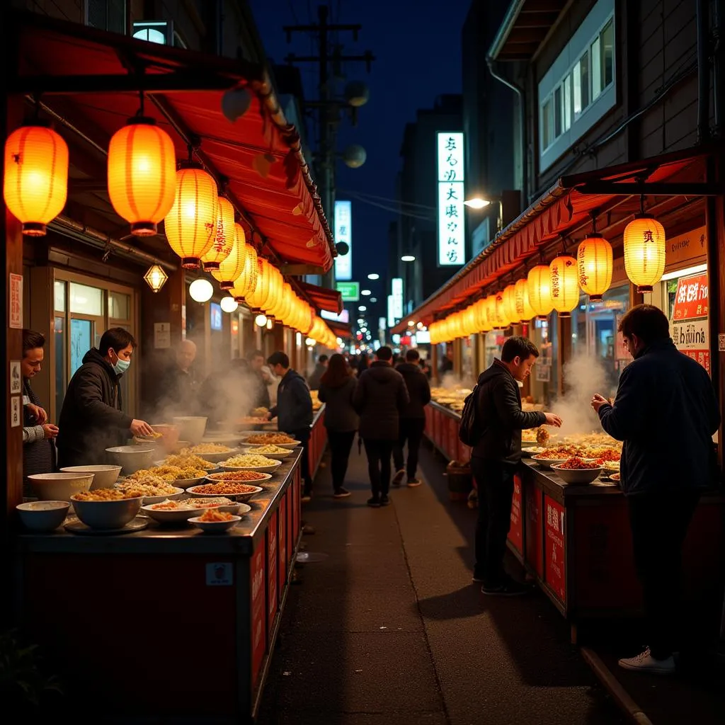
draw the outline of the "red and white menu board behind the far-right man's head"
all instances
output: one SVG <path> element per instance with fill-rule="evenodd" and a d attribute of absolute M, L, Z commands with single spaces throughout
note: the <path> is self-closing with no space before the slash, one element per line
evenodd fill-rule
<path fill-rule="evenodd" d="M 679 278 L 670 320 L 672 340 L 680 352 L 697 360 L 709 374 L 708 311 L 707 273 Z"/>

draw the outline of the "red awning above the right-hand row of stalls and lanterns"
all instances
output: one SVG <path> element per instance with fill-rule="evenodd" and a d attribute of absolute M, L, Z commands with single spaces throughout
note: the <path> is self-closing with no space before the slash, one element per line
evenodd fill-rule
<path fill-rule="evenodd" d="M 688 155 L 689 154 L 689 155 Z M 561 177 L 549 191 L 510 223 L 494 242 L 478 257 L 468 262 L 439 290 L 428 297 L 412 314 L 392 329 L 400 334 L 407 330 L 407 320 L 426 325 L 444 317 L 451 310 L 476 299 L 484 288 L 513 273 L 544 249 L 556 243 L 573 252 L 573 235 L 583 237 L 591 231 L 592 212 L 597 215 L 597 231 L 613 240 L 621 236 L 624 226 L 639 212 L 637 178 L 645 175 L 648 183 L 676 181 L 690 183 L 705 178 L 703 155 L 689 152 L 666 154 L 642 159 L 641 162 L 610 166 L 604 169 Z M 587 184 L 615 182 L 615 193 L 592 194 Z M 651 200 L 650 200 L 651 202 Z M 654 204 L 654 205 L 653 205 Z M 648 210 L 658 218 L 679 212 L 682 207 L 692 211 L 692 199 L 684 196 L 655 197 Z M 546 260 L 547 262 L 550 260 Z"/>

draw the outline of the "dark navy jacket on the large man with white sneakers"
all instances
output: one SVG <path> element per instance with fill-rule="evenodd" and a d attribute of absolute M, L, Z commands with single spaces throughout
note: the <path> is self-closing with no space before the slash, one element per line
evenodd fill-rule
<path fill-rule="evenodd" d="M 614 405 L 602 405 L 599 417 L 610 436 L 624 441 L 626 495 L 704 489 L 715 482 L 715 392 L 705 368 L 671 340 L 650 345 L 624 368 Z"/>

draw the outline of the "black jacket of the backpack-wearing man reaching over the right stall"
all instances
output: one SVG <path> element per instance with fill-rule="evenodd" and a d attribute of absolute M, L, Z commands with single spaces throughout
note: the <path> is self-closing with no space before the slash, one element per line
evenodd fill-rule
<path fill-rule="evenodd" d="M 521 431 L 542 426 L 546 423 L 546 416 L 521 410 L 521 391 L 500 360 L 494 360 L 493 365 L 479 376 L 476 397 L 476 423 L 481 438 L 471 455 L 485 460 L 518 463 L 521 460 Z"/>

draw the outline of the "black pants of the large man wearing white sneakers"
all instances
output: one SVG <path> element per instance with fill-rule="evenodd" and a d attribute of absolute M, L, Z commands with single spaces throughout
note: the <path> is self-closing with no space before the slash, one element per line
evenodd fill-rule
<path fill-rule="evenodd" d="M 658 660 L 668 658 L 681 644 L 682 547 L 699 499 L 698 492 L 627 497 L 648 644 Z"/>

